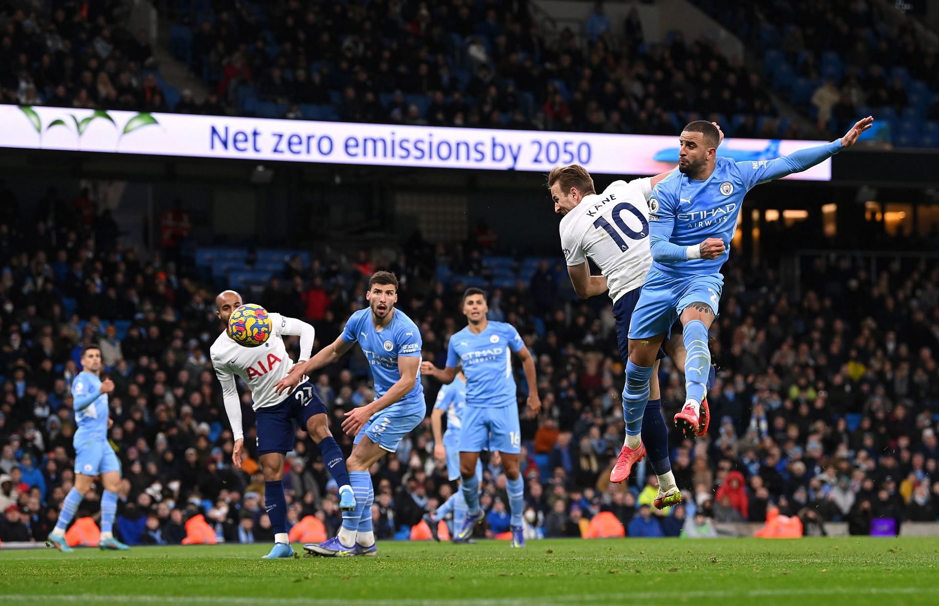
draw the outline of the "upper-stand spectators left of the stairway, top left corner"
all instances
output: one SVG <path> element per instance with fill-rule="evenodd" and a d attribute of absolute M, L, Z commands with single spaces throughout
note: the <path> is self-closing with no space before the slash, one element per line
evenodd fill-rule
<path fill-rule="evenodd" d="M 166 111 L 151 41 L 131 32 L 132 3 L 57 0 L 0 6 L 0 102 Z M 51 7 L 49 7 L 51 5 Z"/>

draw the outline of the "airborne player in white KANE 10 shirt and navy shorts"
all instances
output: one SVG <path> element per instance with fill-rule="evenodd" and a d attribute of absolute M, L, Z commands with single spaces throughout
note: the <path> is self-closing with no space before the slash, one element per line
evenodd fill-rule
<path fill-rule="evenodd" d="M 720 132 L 720 140 L 723 139 L 724 133 Z M 578 164 L 557 166 L 547 178 L 554 211 L 563 215 L 561 244 L 574 290 L 581 299 L 609 292 L 623 367 L 629 363 L 629 321 L 639 301 L 639 290 L 646 273 L 652 267 L 649 215 L 656 210 L 655 202 L 651 200 L 652 188 L 670 172 L 628 183 L 613 181 L 602 194 L 595 193 L 593 179 Z M 588 258 L 600 269 L 601 275 L 591 275 Z M 684 367 L 682 339 L 670 339 L 666 347 L 677 367 Z M 659 358 L 664 356 L 665 353 L 660 352 Z M 709 383 L 713 382 L 712 367 Z M 654 505 L 662 509 L 681 503 L 682 494 L 671 473 L 669 429 L 662 416 L 657 361 L 648 389 L 649 402 L 644 410 L 627 408 L 623 397 L 626 441 L 609 479 L 623 482 L 629 477 L 633 464 L 648 453 L 659 482 Z M 701 402 L 700 418 L 700 433 L 703 434 L 710 420 L 706 400 Z M 630 442 L 634 447 L 629 446 Z"/>

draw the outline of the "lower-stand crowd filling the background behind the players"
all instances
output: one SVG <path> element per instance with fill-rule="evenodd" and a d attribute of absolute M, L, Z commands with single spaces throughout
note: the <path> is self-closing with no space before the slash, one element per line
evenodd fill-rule
<path fill-rule="evenodd" d="M 41 541 L 73 483 L 74 416 L 69 383 L 79 353 L 101 348 L 111 396 L 110 440 L 123 465 L 116 533 L 131 544 L 175 543 L 203 513 L 233 542 L 271 538 L 264 482 L 251 430 L 242 470 L 208 347 L 222 330 L 215 290 L 192 262 L 122 245 L 114 221 L 82 192 L 54 190 L 18 201 L 0 183 L 0 540 Z M 415 237 L 391 258 L 362 250 L 291 261 L 257 303 L 307 319 L 317 347 L 364 305 L 371 272 L 401 278 L 399 306 L 423 334 L 423 356 L 442 365 L 447 339 L 462 328 L 462 287 L 444 284 L 427 263 L 478 270 L 483 233 L 435 251 Z M 491 235 L 491 234 L 490 234 Z M 485 236 L 485 238 L 484 238 Z M 560 263 L 546 261 L 528 281 L 489 293 L 490 318 L 511 322 L 535 354 L 543 412 L 522 415 L 529 536 L 581 536 L 598 512 L 611 512 L 630 536 L 712 536 L 712 521 L 762 521 L 771 505 L 804 519 L 935 521 L 939 516 L 939 268 L 897 265 L 870 275 L 847 259 L 803 272 L 801 296 L 767 268 L 731 261 L 712 348 L 722 369 L 709 400 L 713 422 L 694 443 L 671 432 L 671 460 L 685 504 L 649 505 L 656 478 L 639 465 L 630 486 L 611 485 L 623 442 L 623 367 L 608 299 L 572 297 Z M 296 355 L 297 342 L 288 339 Z M 346 454 L 339 421 L 373 396 L 368 365 L 349 355 L 314 378 Z M 660 370 L 666 416 L 683 402 L 681 375 Z M 519 381 L 524 385 L 524 381 Z M 425 380 L 428 403 L 437 389 Z M 250 394 L 242 391 L 246 427 Z M 433 458 L 429 421 L 372 470 L 379 538 L 398 536 L 454 489 Z M 285 473 L 288 521 L 314 515 L 332 533 L 341 521 L 336 487 L 314 443 L 298 432 Z M 504 521 L 500 457 L 485 461 L 482 503 L 489 533 Z M 96 516 L 98 494 L 79 517 Z"/>

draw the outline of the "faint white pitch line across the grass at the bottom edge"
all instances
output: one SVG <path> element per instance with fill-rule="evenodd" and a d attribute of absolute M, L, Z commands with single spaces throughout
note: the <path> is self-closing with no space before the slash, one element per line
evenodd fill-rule
<path fill-rule="evenodd" d="M 300 604 L 309 604 L 316 601 L 317 605 L 327 606 L 335 604 L 336 606 L 404 606 L 419 604 L 434 606 L 445 604 L 446 606 L 516 606 L 521 604 L 540 603 L 577 603 L 590 600 L 595 602 L 600 599 L 667 599 L 667 598 L 785 598 L 795 596 L 820 596 L 820 595 L 846 595 L 846 596 L 875 596 L 875 595 L 917 595 L 917 594 L 936 594 L 939 593 L 939 587 L 826 587 L 819 589 L 793 588 L 793 589 L 750 589 L 747 591 L 646 591 L 646 592 L 621 592 L 615 594 L 593 594 L 590 596 L 543 596 L 532 598 L 479 598 L 479 599 L 322 599 L 322 598 L 247 598 L 223 596 L 94 596 L 84 595 L 0 595 L 0 602 L 21 602 L 21 601 L 60 601 L 60 602 L 109 602 L 109 603 L 133 603 L 133 602 L 152 602 L 152 603 L 185 603 L 185 604 L 225 604 L 225 605 L 254 605 L 264 604 L 271 606 L 297 606 Z"/>

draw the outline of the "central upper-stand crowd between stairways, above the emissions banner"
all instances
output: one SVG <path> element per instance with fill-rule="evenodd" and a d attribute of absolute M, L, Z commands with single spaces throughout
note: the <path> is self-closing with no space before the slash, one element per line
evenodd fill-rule
<path fill-rule="evenodd" d="M 245 2 L 195 25 L 185 54 L 242 113 L 256 96 L 277 117 L 331 105 L 356 122 L 673 134 L 720 113 L 737 136 L 777 129 L 762 77 L 713 42 L 647 44 L 635 9 L 623 29 L 600 4 L 583 36 L 547 40 L 524 2 Z"/>

